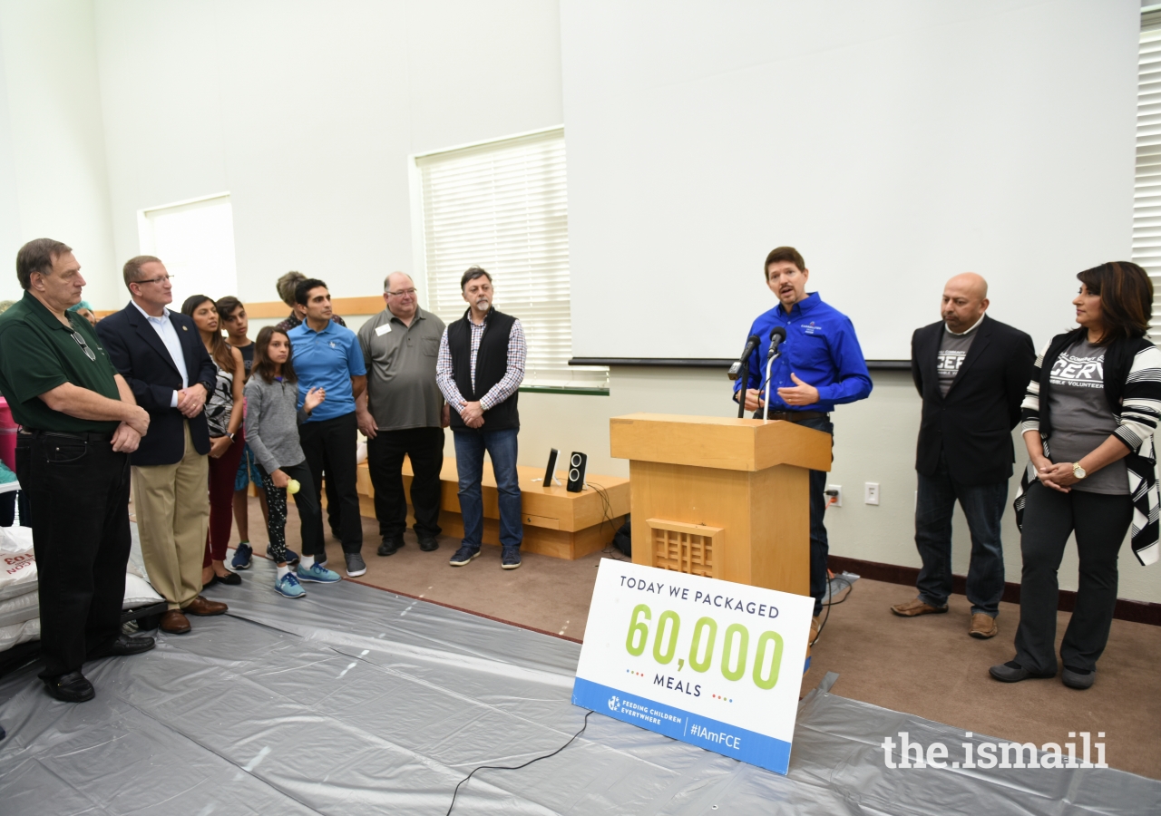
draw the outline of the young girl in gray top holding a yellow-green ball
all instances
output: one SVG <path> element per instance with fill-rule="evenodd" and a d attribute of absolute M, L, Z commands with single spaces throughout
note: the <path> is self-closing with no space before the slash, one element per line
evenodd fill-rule
<path fill-rule="evenodd" d="M 294 373 L 290 340 L 286 332 L 267 326 L 254 341 L 254 367 L 246 383 L 246 441 L 258 458 L 271 513 L 267 533 L 271 544 L 267 556 L 279 565 L 274 588 L 287 598 L 302 598 L 307 591 L 300 582 L 331 584 L 339 573 L 326 569 L 323 544 L 323 514 L 315 499 L 313 482 L 307 456 L 298 445 L 298 426 L 326 398 L 320 388 L 307 392 L 302 409 L 298 402 L 298 377 Z M 302 520 L 302 559 L 291 571 L 287 562 L 286 523 L 287 492 L 294 494 Z"/>

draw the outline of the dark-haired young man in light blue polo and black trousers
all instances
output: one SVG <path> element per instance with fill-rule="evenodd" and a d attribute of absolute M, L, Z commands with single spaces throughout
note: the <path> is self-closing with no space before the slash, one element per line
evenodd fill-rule
<path fill-rule="evenodd" d="M 361 555 L 362 518 L 355 485 L 359 445 L 355 399 L 367 388 L 367 367 L 355 333 L 331 320 L 331 293 L 323 281 L 313 277 L 298 281 L 295 299 L 307 310 L 307 319 L 287 332 L 298 375 L 298 407 L 312 388 L 320 388 L 326 395 L 310 419 L 298 426 L 298 436 L 319 501 L 319 485 L 326 472 L 326 514 L 331 530 L 338 530 L 347 575 L 353 578 L 367 571 Z"/>

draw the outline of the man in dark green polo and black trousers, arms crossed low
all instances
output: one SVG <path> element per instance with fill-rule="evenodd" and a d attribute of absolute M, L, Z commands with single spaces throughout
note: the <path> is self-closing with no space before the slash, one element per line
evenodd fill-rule
<path fill-rule="evenodd" d="M 152 637 L 121 634 L 129 561 L 129 454 L 149 429 L 85 318 L 70 312 L 85 279 L 48 238 L 16 253 L 24 297 L 0 315 L 0 392 L 21 425 L 16 476 L 31 510 L 39 579 L 41 679 L 66 702 L 92 700 L 85 660 L 136 655 Z"/>

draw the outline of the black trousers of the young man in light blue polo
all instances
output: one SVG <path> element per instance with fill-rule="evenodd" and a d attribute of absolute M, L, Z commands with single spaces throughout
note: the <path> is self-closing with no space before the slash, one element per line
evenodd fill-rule
<path fill-rule="evenodd" d="M 332 525 L 338 522 L 342 551 L 358 553 L 362 549 L 362 518 L 359 515 L 359 491 L 355 488 L 359 421 L 354 411 L 334 419 L 300 425 L 298 441 L 315 482 L 315 500 L 322 503 L 319 486 L 325 470 L 327 517 Z"/>

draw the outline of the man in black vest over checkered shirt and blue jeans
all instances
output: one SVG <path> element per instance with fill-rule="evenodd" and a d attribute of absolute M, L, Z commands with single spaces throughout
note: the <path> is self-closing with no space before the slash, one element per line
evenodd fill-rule
<path fill-rule="evenodd" d="M 514 317 L 492 308 L 492 276 L 474 266 L 460 279 L 468 302 L 463 317 L 444 330 L 435 382 L 450 405 L 455 464 L 460 475 L 463 543 L 449 562 L 463 566 L 479 555 L 484 535 L 484 504 L 479 489 L 484 452 L 492 460 L 499 492 L 500 566 L 520 565 L 524 523 L 520 520 L 520 477 L 517 474 L 515 404 L 524 380 L 524 328 Z"/>

